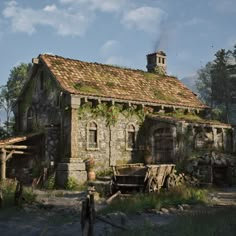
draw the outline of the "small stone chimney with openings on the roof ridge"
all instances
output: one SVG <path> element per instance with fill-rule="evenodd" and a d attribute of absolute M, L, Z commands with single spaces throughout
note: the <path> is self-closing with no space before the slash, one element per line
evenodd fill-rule
<path fill-rule="evenodd" d="M 166 54 L 163 51 L 147 55 L 148 72 L 166 74 Z"/>

